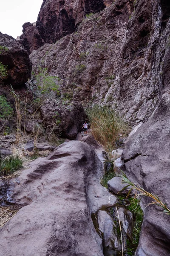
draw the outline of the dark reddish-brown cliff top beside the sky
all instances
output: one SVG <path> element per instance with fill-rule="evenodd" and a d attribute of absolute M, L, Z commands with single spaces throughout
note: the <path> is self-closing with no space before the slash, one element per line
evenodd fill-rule
<path fill-rule="evenodd" d="M 102 0 L 44 0 L 37 19 L 37 28 L 45 43 L 55 43 L 72 34 L 88 13 L 105 8 Z"/>

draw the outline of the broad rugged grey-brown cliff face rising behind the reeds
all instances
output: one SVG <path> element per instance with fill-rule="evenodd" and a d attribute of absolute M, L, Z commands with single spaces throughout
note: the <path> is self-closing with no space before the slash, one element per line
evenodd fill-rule
<path fill-rule="evenodd" d="M 169 47 L 164 9 L 159 1 L 117 0 L 86 17 L 77 32 L 32 52 L 31 60 L 57 74 L 74 99 L 111 105 L 133 123 L 145 121 L 159 99 Z"/>

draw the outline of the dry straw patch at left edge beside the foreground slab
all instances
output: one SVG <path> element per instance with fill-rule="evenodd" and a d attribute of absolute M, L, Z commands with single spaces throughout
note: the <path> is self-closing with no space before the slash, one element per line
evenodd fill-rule
<path fill-rule="evenodd" d="M 0 207 L 0 228 L 3 227 L 12 217 L 14 217 L 19 211 L 19 207 Z"/>

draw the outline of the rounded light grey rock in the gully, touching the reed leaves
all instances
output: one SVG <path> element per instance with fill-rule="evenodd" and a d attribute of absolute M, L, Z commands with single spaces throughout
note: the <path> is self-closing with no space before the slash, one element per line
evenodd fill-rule
<path fill-rule="evenodd" d="M 122 177 L 113 177 L 111 180 L 108 181 L 108 189 L 114 192 L 115 195 L 125 195 L 128 194 L 129 190 L 132 186 L 128 186 L 125 190 L 121 191 L 127 183 L 122 183 Z M 121 191 L 121 192 L 120 192 Z"/>

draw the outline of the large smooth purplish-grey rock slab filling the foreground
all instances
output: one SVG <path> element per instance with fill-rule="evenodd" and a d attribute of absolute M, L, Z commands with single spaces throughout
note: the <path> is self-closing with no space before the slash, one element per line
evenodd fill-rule
<path fill-rule="evenodd" d="M 113 205 L 99 183 L 103 166 L 90 145 L 70 141 L 11 180 L 7 202 L 21 207 L 0 229 L 3 256 L 103 256 L 91 212 Z"/>

